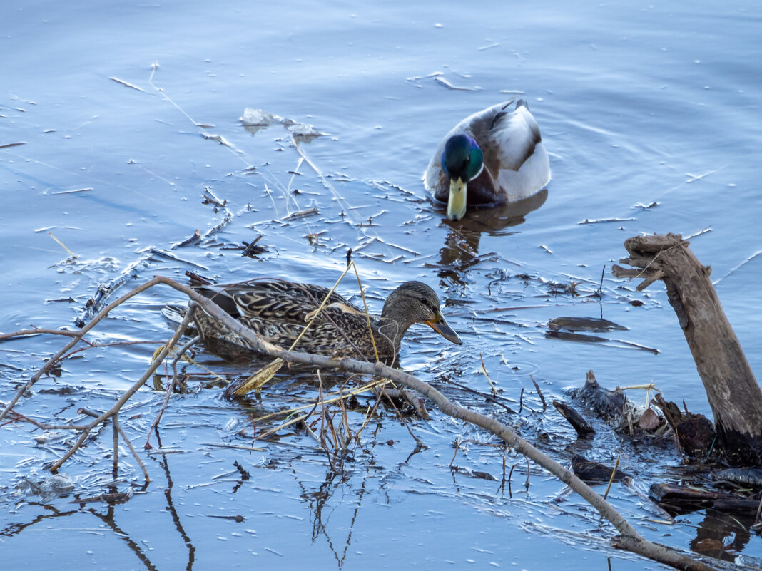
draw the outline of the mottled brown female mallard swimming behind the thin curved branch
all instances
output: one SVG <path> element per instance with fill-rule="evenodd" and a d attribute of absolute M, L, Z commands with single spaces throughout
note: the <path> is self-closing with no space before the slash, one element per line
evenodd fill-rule
<path fill-rule="evenodd" d="M 284 349 L 299 337 L 329 291 L 320 285 L 260 279 L 194 287 L 255 333 Z M 251 349 L 245 340 L 203 311 L 196 312 L 195 320 L 205 342 L 223 340 Z M 448 341 L 463 343 L 442 317 L 434 290 L 421 282 L 405 282 L 386 299 L 381 317 L 370 319 L 381 361 L 395 362 L 402 336 L 415 323 L 428 325 Z M 331 294 L 294 350 L 375 360 L 364 311 L 337 293 Z"/>

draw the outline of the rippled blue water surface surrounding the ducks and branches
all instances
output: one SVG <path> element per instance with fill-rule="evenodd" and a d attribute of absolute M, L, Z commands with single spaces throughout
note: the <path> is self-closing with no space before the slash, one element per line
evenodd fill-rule
<path fill-rule="evenodd" d="M 202 203 L 201 193 L 209 187 L 234 215 L 216 234 L 219 244 L 264 234 L 261 244 L 271 247 L 270 253 L 249 260 L 210 244 L 178 248 L 172 252 L 183 262 L 158 260 L 139 273 L 138 282 L 155 274 L 181 279 L 190 269 L 223 281 L 274 276 L 330 285 L 343 270 L 347 247 L 353 247 L 376 308 L 405 279 L 423 279 L 440 292 L 448 321 L 465 343 L 446 346 L 422 328 L 413 330 L 403 365 L 422 378 L 456 375 L 488 390 L 479 372 L 482 352 L 492 380 L 511 397 L 521 388 L 533 391 L 530 374 L 546 396 L 555 397 L 594 369 L 609 387 L 654 381 L 669 400 L 684 400 L 691 410 L 710 415 L 663 286 L 636 294 L 634 283 L 612 278 L 610 266 L 626 256 L 623 241 L 632 235 L 709 230 L 691 240 L 691 249 L 712 266 L 728 319 L 752 368 L 760 371 L 760 20 L 762 10 L 754 2 L 510 7 L 502 2 L 5 2 L 0 8 L 5 54 L 0 330 L 71 325 L 98 283 L 138 260 L 146 248 L 169 250 L 197 229 L 203 233 L 219 224 L 223 212 Z M 466 89 L 447 89 L 436 78 Z M 551 157 L 547 198 L 519 225 L 489 229 L 471 217 L 450 228 L 427 202 L 421 183 L 429 155 L 458 120 L 516 95 L 529 102 Z M 283 126 L 254 135 L 243 129 L 239 118 L 247 107 L 324 132 L 300 145 L 315 168 L 300 161 Z M 203 134 L 223 137 L 229 145 Z M 2 148 L 18 142 L 24 145 Z M 297 170 L 300 174 L 292 174 Z M 652 203 L 658 205 L 644 208 Z M 275 222 L 312 206 L 319 215 Z M 351 223 L 369 217 L 374 225 Z M 585 219 L 620 222 L 581 224 Z M 69 254 L 48 232 L 79 260 L 62 264 Z M 584 294 L 597 289 L 604 266 L 605 295 L 599 303 Z M 511 277 L 488 290 L 501 272 Z M 515 277 L 519 273 L 533 281 L 527 285 Z M 547 280 L 580 282 L 583 295 L 549 296 Z M 342 291 L 356 289 L 347 282 Z M 69 296 L 74 303 L 51 301 Z M 645 305 L 633 308 L 627 303 L 632 298 Z M 165 340 L 168 328 L 156 310 L 167 301 L 181 298 L 161 289 L 131 301 L 98 327 L 96 337 Z M 655 347 L 658 356 L 544 339 L 552 317 L 601 314 L 629 327 L 616 338 Z M 0 400 L 9 400 L 14 384 L 61 344 L 35 337 L 0 346 L 6 387 Z M 85 406 L 82 400 L 107 407 L 139 377 L 153 349 L 84 352 L 82 359 L 66 362 L 62 378 L 41 381 L 49 388 L 75 386 L 76 396 L 38 394 L 20 410 L 62 415 L 57 418 L 63 421 L 75 418 L 69 408 Z M 141 419 L 128 423 L 136 440 L 161 400 L 142 392 L 145 408 L 136 407 Z M 557 564 L 562 553 L 565 569 L 606 569 L 606 557 L 620 555 L 601 546 L 596 547 L 600 554 L 591 555 L 557 539 L 553 549 L 534 548 L 539 535 L 520 528 L 521 522 L 543 519 L 552 527 L 586 529 L 567 516 L 547 522 L 547 509 L 537 507 L 561 486 L 538 475 L 527 503 L 485 500 L 495 496 L 496 483 L 450 476 L 454 435 L 469 429 L 452 427 L 441 417 L 431 426 L 415 423 L 430 449 L 406 466 L 413 445 L 390 416 L 378 438 L 398 444 L 367 443 L 386 476 L 376 477 L 368 459 L 360 458 L 347 481 L 328 486 L 331 493 L 319 512 L 308 498 L 325 491 L 326 467 L 309 440 L 297 443 L 308 448 L 305 454 L 314 464 L 293 460 L 296 452 L 277 447 L 252 456 L 205 448 L 219 439 L 242 444 L 235 434 L 248 426 L 248 416 L 239 404 L 220 400 L 214 389 L 177 400 L 182 404 L 170 405 L 166 431 L 185 454 L 168 462 L 171 471 L 160 465 L 161 458 L 149 460 L 158 481 L 111 515 L 136 544 L 151 544 L 141 553 L 155 568 L 187 565 L 186 551 L 178 556 L 174 550 L 188 544 L 197 568 L 226 557 L 231 568 L 255 563 L 291 569 L 309 557 L 315 569 L 440 569 L 443 563 L 463 566 L 469 560 L 544 569 Z M 273 395 L 264 400 L 264 410 L 280 407 Z M 228 426 L 231 418 L 240 424 Z M 537 417 L 525 422 L 541 424 Z M 558 419 L 548 413 L 547 422 L 550 432 L 557 432 Z M 3 427 L 0 487 L 12 489 L 19 474 L 42 474 L 43 460 L 62 453 L 41 452 L 36 433 L 23 424 Z M 110 439 L 105 432 L 100 438 L 101 448 L 85 458 L 94 455 L 95 462 L 101 452 L 108 454 Z M 559 452 L 564 445 L 559 442 Z M 256 467 L 261 458 L 277 458 L 283 470 Z M 559 460 L 565 458 L 559 454 Z M 238 495 L 230 493 L 226 479 L 213 480 L 235 471 L 234 460 L 248 463 L 256 474 Z M 469 461 L 474 470 L 501 471 L 501 455 L 492 450 L 472 448 Z M 100 458 L 94 470 L 107 472 L 107 464 Z M 90 490 L 87 463 L 70 466 L 82 489 Z M 139 473 L 133 476 L 139 480 Z M 418 477 L 430 482 L 424 493 Z M 182 506 L 180 524 L 162 511 L 168 509 L 162 490 L 170 482 L 173 501 Z M 261 493 L 257 486 L 276 491 Z M 625 490 L 616 501 L 634 517 L 642 515 Z M 95 523 L 87 509 L 103 514 L 102 504 L 78 509 L 65 502 L 56 506 L 73 510 L 71 516 L 0 536 L 8 560 L 23 558 L 30 568 L 41 568 L 62 553 L 78 566 L 148 566 L 135 555 L 140 550 L 109 528 L 88 531 Z M 246 522 L 212 518 L 218 512 L 241 513 Z M 9 508 L 0 528 L 31 522 L 40 513 L 46 509 Z M 69 530 L 66 539 L 58 528 Z M 688 526 L 685 538 L 664 538 L 669 530 L 656 530 L 653 538 L 677 547 L 687 548 L 693 537 Z M 29 560 L 30 544 L 41 538 L 50 550 Z M 114 550 L 125 547 L 137 559 L 114 560 Z M 745 552 L 760 555 L 755 538 Z M 644 563 L 632 558 L 616 565 L 642 569 Z"/>

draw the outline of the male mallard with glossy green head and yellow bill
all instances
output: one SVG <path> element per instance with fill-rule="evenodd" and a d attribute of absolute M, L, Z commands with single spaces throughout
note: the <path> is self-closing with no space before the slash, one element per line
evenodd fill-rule
<path fill-rule="evenodd" d="M 501 206 L 532 196 L 550 180 L 548 153 L 526 101 L 513 100 L 466 117 L 447 133 L 424 181 L 459 220 L 469 206 Z M 468 191 L 466 196 L 466 190 Z"/>

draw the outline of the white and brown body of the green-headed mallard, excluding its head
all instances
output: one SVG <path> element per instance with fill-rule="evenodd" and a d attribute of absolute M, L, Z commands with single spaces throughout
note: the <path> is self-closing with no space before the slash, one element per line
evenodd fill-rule
<path fill-rule="evenodd" d="M 500 206 L 543 190 L 550 180 L 550 164 L 539 126 L 524 100 L 509 110 L 513 103 L 507 101 L 466 117 L 442 139 L 424 175 L 434 199 L 447 203 L 450 198 L 442 153 L 447 140 L 455 135 L 471 137 L 484 153 L 479 175 L 464 181 L 469 206 Z"/>

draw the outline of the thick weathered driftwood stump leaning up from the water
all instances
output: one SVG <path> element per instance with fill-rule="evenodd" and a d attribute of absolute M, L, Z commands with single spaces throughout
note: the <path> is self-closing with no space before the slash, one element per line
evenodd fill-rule
<path fill-rule="evenodd" d="M 644 278 L 639 291 L 664 282 L 714 413 L 716 449 L 734 464 L 760 466 L 762 391 L 709 280 L 711 268 L 688 244 L 676 234 L 628 238 L 629 258 L 620 263 L 639 269 L 615 265 L 613 275 Z"/>

